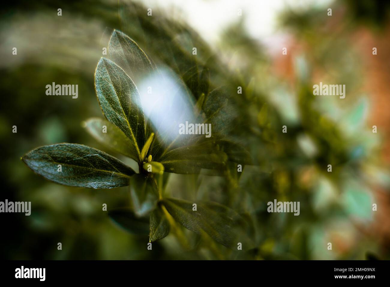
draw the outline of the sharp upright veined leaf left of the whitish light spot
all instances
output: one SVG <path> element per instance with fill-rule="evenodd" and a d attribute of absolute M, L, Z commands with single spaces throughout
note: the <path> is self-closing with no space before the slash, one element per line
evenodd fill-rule
<path fill-rule="evenodd" d="M 131 153 L 136 153 L 140 160 L 145 122 L 137 87 L 117 64 L 101 58 L 96 67 L 95 88 L 106 119 L 128 137 Z"/>

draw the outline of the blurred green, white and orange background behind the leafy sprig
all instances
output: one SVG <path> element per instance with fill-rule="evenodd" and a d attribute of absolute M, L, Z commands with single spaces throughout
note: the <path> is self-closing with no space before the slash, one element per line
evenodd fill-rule
<path fill-rule="evenodd" d="M 388 2 L 51 0 L 8 5 L 2 6 L 0 18 L 0 201 L 32 201 L 32 214 L 0 214 L 0 258 L 390 258 Z M 191 75 L 206 67 L 210 87 L 230 91 L 225 124 L 254 165 L 245 166 L 240 176 L 171 175 L 167 193 L 217 201 L 240 212 L 251 223 L 249 251 L 196 241 L 190 231 L 186 236 L 196 242 L 191 248 L 168 235 L 147 251 L 147 238 L 127 233 L 102 212 L 103 203 L 109 208 L 130 204 L 126 187 L 57 185 L 20 160 L 37 146 L 68 142 L 104 150 L 134 166 L 96 143 L 81 125 L 102 116 L 94 70 L 113 29 L 133 38 L 154 62 L 170 67 L 190 90 Z M 197 47 L 196 57 L 192 47 Z M 287 55 L 282 55 L 284 47 Z M 78 84 L 78 98 L 47 96 L 45 87 L 52 82 Z M 345 84 L 346 98 L 313 96 L 312 86 L 319 82 Z M 243 94 L 237 94 L 238 86 Z M 300 201 L 300 216 L 268 213 L 266 204 L 274 198 Z"/>

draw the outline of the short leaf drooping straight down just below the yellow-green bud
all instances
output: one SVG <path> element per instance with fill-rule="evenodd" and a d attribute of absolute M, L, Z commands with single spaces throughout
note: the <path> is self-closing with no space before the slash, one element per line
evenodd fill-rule
<path fill-rule="evenodd" d="M 158 189 L 150 177 L 135 174 L 130 180 L 130 196 L 137 216 L 143 216 L 156 208 Z"/>

